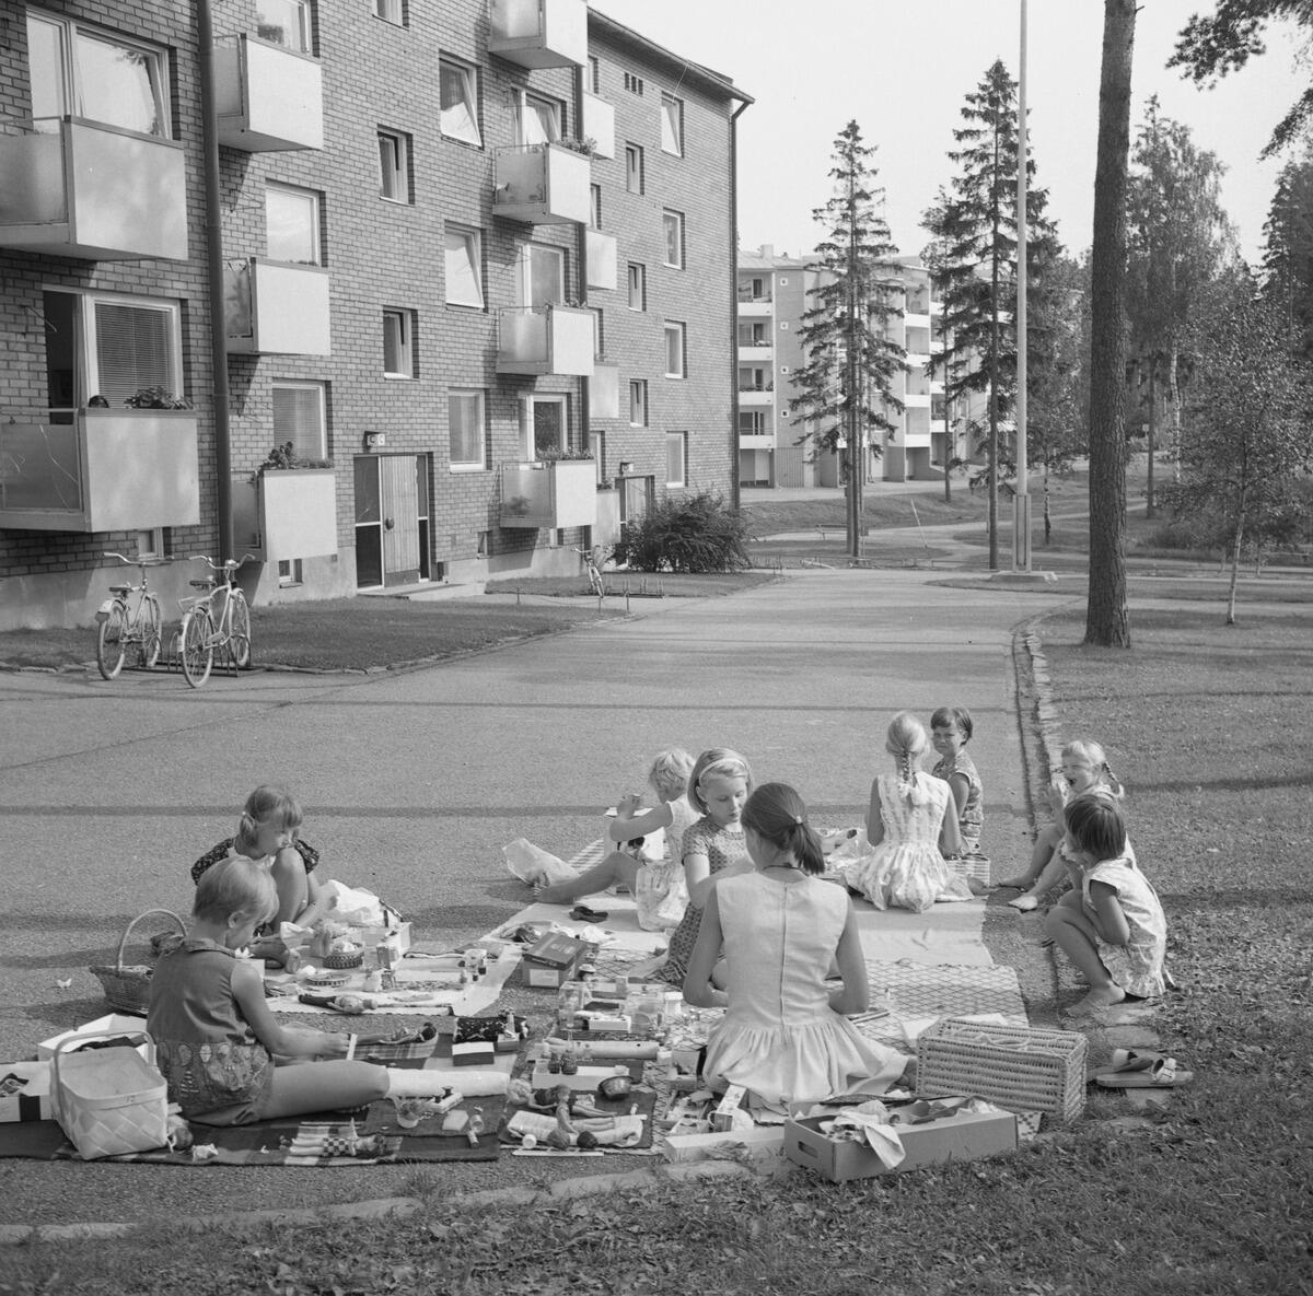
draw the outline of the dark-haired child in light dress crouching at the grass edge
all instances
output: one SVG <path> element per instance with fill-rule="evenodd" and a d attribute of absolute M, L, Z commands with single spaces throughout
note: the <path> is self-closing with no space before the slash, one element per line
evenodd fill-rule
<path fill-rule="evenodd" d="M 1162 994 L 1167 920 L 1127 853 L 1121 807 L 1087 794 L 1066 807 L 1065 822 L 1066 855 L 1081 884 L 1048 912 L 1044 930 L 1090 982 L 1070 1015 L 1090 1017 L 1128 997 Z"/>

